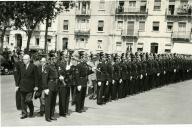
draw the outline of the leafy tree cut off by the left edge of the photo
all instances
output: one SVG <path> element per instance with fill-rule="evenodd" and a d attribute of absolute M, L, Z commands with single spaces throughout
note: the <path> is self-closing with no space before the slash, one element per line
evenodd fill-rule
<path fill-rule="evenodd" d="M 8 28 L 13 26 L 15 2 L 1 1 L 0 2 L 0 53 L 3 51 L 4 36 Z"/>

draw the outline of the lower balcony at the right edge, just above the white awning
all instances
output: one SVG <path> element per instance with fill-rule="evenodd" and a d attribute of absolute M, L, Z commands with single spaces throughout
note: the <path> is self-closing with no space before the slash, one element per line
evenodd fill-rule
<path fill-rule="evenodd" d="M 175 31 L 172 33 L 171 38 L 173 41 L 190 41 L 191 40 L 191 32 L 185 31 Z"/>

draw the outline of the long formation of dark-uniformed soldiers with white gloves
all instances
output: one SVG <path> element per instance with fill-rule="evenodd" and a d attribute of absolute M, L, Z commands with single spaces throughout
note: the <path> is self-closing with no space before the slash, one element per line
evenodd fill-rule
<path fill-rule="evenodd" d="M 28 58 L 28 55 L 24 55 L 23 59 L 26 59 L 26 56 Z M 15 81 L 17 91 L 19 88 L 22 92 L 21 67 L 24 64 L 22 55 L 19 58 L 15 63 Z M 48 122 L 56 120 L 54 112 L 57 95 L 59 115 L 66 117 L 70 115 L 70 99 L 76 112 L 86 111 L 84 103 L 87 88 L 92 90 L 90 99 L 96 99 L 98 105 L 103 105 L 192 78 L 192 57 L 181 54 L 136 52 L 119 55 L 101 52 L 88 55 L 79 52 L 75 55 L 74 51 L 68 50 L 67 53 L 49 53 L 31 58 L 30 63 L 35 65 L 35 75 L 38 76 L 34 78 L 36 83 L 32 94 L 40 99 L 40 115 L 45 114 Z M 29 116 L 33 116 L 34 111 L 31 102 L 32 98 Z M 21 109 L 21 119 L 27 118 L 26 106 L 22 104 Z"/>

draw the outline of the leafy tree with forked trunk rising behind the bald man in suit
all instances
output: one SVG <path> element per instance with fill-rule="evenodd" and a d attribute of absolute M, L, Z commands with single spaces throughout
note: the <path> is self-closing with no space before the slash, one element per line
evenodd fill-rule
<path fill-rule="evenodd" d="M 25 31 L 27 39 L 26 52 L 36 26 L 45 19 L 45 2 L 43 1 L 19 1 L 15 11 L 15 27 Z"/>

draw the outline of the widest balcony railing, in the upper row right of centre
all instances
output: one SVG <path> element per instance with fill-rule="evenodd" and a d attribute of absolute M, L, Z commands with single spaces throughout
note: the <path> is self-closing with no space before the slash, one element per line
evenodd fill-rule
<path fill-rule="evenodd" d="M 116 14 L 147 14 L 146 8 L 135 8 L 135 7 L 117 7 Z"/>

